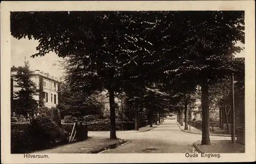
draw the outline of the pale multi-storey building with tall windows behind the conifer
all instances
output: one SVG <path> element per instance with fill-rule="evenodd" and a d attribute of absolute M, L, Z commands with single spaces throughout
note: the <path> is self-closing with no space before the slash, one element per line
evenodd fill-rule
<path fill-rule="evenodd" d="M 13 75 L 16 74 L 16 71 L 11 72 L 11 98 L 15 91 L 18 91 L 20 88 L 14 87 L 15 80 L 13 80 Z M 58 104 L 58 84 L 59 80 L 57 77 L 51 76 L 49 73 L 42 72 L 40 70 L 33 71 L 31 79 L 36 85 L 36 89 L 39 90 L 42 88 L 42 94 L 33 95 L 33 98 L 39 102 L 41 97 L 44 101 L 45 106 L 51 108 L 56 107 Z M 42 83 L 40 85 L 40 83 Z"/>

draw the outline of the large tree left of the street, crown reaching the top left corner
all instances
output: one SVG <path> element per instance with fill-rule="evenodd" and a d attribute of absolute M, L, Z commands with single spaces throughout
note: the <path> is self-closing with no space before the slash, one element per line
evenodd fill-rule
<path fill-rule="evenodd" d="M 125 12 L 12 12 L 11 33 L 19 39 L 27 36 L 29 39 L 33 37 L 39 40 L 37 47 L 39 52 L 33 57 L 45 56 L 49 51 L 54 51 L 59 57 L 77 60 L 77 63 L 73 64 L 76 64 L 74 66 L 78 66 L 81 71 L 91 70 L 89 72 L 94 73 L 89 74 L 101 81 L 96 89 L 104 88 L 109 91 L 110 138 L 116 139 L 113 104 L 115 92 L 119 89 L 118 80 L 122 80 L 120 69 L 124 68 L 125 64 L 129 64 L 134 55 L 138 56 L 140 51 L 148 52 L 143 48 L 147 42 L 136 33 L 143 32 L 141 27 L 145 24 L 154 26 L 146 22 L 135 24 L 133 20 L 137 18 L 143 20 L 147 17 L 146 14 L 143 18 L 140 16 Z M 23 21 L 20 21 L 20 18 Z M 19 26 L 18 31 L 15 30 L 17 26 Z M 131 35 L 132 29 L 135 33 Z M 80 78 L 78 75 L 74 77 Z M 88 74 L 82 79 L 86 77 Z"/>

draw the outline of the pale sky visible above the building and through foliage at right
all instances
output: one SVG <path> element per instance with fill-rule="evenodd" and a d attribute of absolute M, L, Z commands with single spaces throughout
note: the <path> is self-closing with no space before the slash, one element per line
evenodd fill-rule
<path fill-rule="evenodd" d="M 47 72 L 52 76 L 59 77 L 62 75 L 63 70 L 58 66 L 58 61 L 63 61 L 54 52 L 49 52 L 44 57 L 30 58 L 33 54 L 37 52 L 36 46 L 38 41 L 26 39 L 15 39 L 11 38 L 11 66 L 23 66 L 25 57 L 26 61 L 30 63 L 31 70 L 40 70 Z M 238 43 L 239 46 L 243 47 L 242 43 Z M 245 57 L 245 51 L 241 51 L 236 57 Z M 56 64 L 56 65 L 53 65 Z"/>

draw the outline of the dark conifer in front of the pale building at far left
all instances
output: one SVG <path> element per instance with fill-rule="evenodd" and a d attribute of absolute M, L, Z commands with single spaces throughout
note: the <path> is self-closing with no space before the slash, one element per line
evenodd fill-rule
<path fill-rule="evenodd" d="M 17 73 L 14 74 L 14 81 L 18 91 L 14 92 L 15 113 L 27 117 L 27 114 L 34 114 L 38 104 L 33 95 L 36 95 L 36 85 L 31 79 L 32 71 L 29 68 L 29 62 L 25 66 L 19 66 Z"/>

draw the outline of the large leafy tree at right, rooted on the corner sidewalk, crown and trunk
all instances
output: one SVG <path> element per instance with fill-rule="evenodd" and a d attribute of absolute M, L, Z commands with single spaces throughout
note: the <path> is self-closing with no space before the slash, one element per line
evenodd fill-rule
<path fill-rule="evenodd" d="M 236 43 L 244 43 L 244 12 L 204 12 L 203 16 L 200 14 L 182 12 L 183 19 L 172 21 L 181 29 L 189 30 L 174 30 L 174 27 L 170 26 L 170 31 L 167 31 L 176 31 L 176 35 L 179 36 L 173 40 L 179 38 L 182 43 L 179 46 L 171 45 L 169 49 L 173 51 L 173 56 L 166 56 L 165 60 L 169 59 L 176 63 L 176 69 L 173 69 L 172 65 L 172 69 L 167 69 L 166 72 L 170 72 L 178 79 L 185 79 L 187 84 L 201 86 L 201 144 L 209 145 L 209 86 L 232 72 L 233 53 L 241 50 Z"/>

